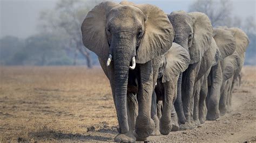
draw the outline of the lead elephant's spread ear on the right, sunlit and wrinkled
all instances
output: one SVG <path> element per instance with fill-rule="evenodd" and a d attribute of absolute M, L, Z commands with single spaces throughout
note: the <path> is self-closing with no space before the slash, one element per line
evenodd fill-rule
<path fill-rule="evenodd" d="M 169 51 L 174 39 L 174 30 L 165 12 L 157 6 L 150 4 L 134 6 L 142 10 L 146 16 L 145 33 L 136 56 L 137 63 L 145 63 Z"/>

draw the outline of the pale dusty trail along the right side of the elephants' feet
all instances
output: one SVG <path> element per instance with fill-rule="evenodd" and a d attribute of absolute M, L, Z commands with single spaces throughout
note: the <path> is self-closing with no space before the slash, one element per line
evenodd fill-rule
<path fill-rule="evenodd" d="M 233 111 L 189 131 L 150 137 L 150 141 L 256 141 L 256 90 L 242 87 L 233 95 Z"/>

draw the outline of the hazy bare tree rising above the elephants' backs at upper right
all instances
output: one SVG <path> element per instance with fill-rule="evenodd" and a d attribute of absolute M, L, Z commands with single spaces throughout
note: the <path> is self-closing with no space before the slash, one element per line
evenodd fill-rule
<path fill-rule="evenodd" d="M 223 26 L 231 23 L 232 8 L 230 0 L 196 0 L 190 5 L 189 11 L 203 12 L 211 19 L 213 26 Z"/>

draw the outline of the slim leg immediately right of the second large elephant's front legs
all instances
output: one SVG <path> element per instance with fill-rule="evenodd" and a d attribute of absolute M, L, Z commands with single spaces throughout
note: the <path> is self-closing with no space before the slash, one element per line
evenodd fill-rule
<path fill-rule="evenodd" d="M 194 85 L 196 88 L 195 93 L 194 93 L 194 108 L 193 108 L 193 120 L 194 120 L 194 125 L 199 126 L 200 125 L 200 121 L 199 121 L 199 96 L 200 95 L 200 89 L 201 89 L 201 81 L 203 81 L 204 76 L 200 78 L 199 81 L 196 82 L 196 84 Z"/>

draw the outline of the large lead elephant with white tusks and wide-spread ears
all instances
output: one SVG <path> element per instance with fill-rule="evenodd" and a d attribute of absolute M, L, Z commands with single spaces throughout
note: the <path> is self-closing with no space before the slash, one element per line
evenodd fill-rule
<path fill-rule="evenodd" d="M 174 39 L 168 17 L 157 6 L 106 1 L 87 13 L 81 30 L 84 46 L 96 53 L 110 81 L 119 124 L 114 141 L 145 140 L 155 127 L 158 70 Z"/>

